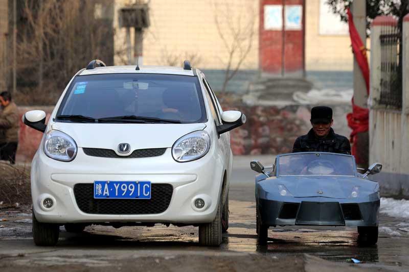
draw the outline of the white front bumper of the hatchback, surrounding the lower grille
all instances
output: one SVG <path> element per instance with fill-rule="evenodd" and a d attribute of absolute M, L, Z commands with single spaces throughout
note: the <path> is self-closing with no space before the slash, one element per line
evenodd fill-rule
<path fill-rule="evenodd" d="M 171 149 L 150 158 L 99 158 L 85 155 L 81 148 L 72 162 L 60 162 L 47 157 L 42 150 L 34 156 L 31 172 L 33 210 L 40 222 L 57 224 L 87 222 L 164 222 L 201 224 L 216 216 L 223 181 L 225 162 L 211 149 L 195 161 L 178 163 Z M 85 213 L 76 201 L 76 184 L 93 184 L 95 180 L 138 181 L 168 184 L 173 188 L 168 207 L 155 214 L 94 214 Z M 77 195 L 78 196 L 78 195 Z M 47 197 L 54 202 L 47 209 L 42 202 Z M 88 196 L 93 199 L 93 194 Z M 153 197 L 153 194 L 152 194 Z M 205 200 L 197 209 L 194 200 Z M 109 200 L 105 200 L 109 201 Z M 144 201 L 144 200 L 139 200 Z M 157 201 L 157 200 L 156 200 Z M 126 210 L 126 209 L 125 209 Z"/>

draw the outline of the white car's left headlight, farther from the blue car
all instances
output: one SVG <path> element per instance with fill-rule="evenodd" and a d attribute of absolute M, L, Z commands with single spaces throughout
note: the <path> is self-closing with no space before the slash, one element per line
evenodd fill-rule
<path fill-rule="evenodd" d="M 77 155 L 77 144 L 67 134 L 51 130 L 44 140 L 44 153 L 54 160 L 72 161 Z"/>

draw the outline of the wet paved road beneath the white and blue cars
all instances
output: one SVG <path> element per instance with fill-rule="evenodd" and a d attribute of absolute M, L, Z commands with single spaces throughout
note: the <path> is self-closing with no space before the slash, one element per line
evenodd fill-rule
<path fill-rule="evenodd" d="M 271 156 L 255 156 L 265 165 Z M 409 270 L 409 235 L 397 224 L 407 219 L 381 214 L 380 226 L 400 236 L 380 233 L 378 244 L 362 248 L 354 228 L 277 227 L 269 230 L 267 246 L 257 244 L 254 173 L 250 157 L 236 157 L 230 191 L 230 228 L 220 248 L 197 245 L 194 227 L 90 226 L 82 234 L 61 228 L 58 245 L 33 244 L 30 207 L 0 211 L 0 270 L 135 270 L 145 271 L 372 271 Z M 269 161 L 270 160 L 270 161 Z M 0 219 L 1 220 L 1 219 Z M 1 227 L 1 226 L 0 226 Z M 366 263 L 350 264 L 347 258 Z"/>

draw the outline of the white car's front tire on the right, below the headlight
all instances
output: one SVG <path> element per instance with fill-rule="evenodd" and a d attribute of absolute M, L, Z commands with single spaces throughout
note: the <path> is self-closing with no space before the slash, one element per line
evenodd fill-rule
<path fill-rule="evenodd" d="M 220 200 L 221 202 L 221 200 Z M 217 205 L 214 220 L 199 226 L 199 244 L 204 246 L 219 246 L 221 244 L 221 205 Z"/>

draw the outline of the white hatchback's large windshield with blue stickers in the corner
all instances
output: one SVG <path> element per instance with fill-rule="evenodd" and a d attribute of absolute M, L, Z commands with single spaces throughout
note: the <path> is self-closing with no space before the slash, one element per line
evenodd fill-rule
<path fill-rule="evenodd" d="M 62 101 L 58 116 L 109 118 L 139 116 L 206 121 L 197 77 L 162 74 L 107 74 L 78 76 Z M 62 118 L 60 118 L 62 119 Z M 85 118 L 82 118 L 84 121 Z"/>

